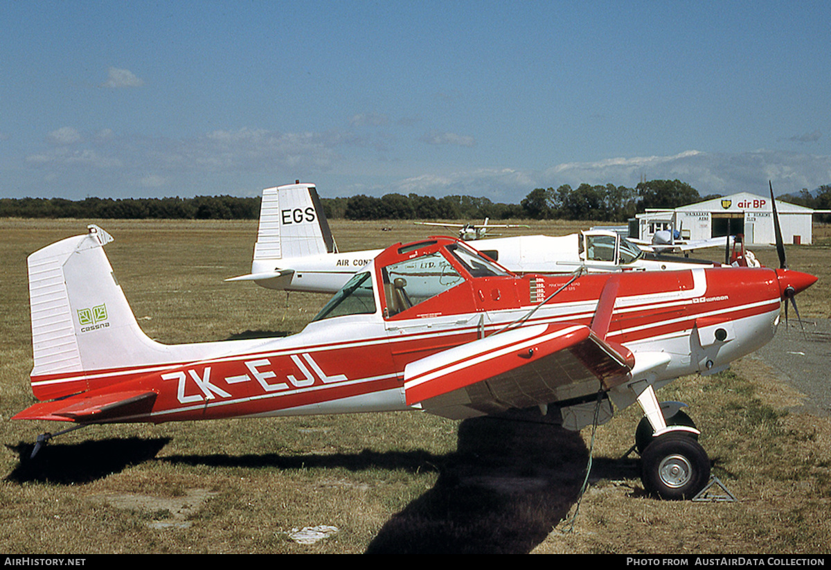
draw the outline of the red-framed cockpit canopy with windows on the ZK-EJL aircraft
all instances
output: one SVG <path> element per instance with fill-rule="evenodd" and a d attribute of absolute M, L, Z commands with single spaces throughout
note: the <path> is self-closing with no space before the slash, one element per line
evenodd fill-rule
<path fill-rule="evenodd" d="M 378 306 L 384 318 L 396 317 L 413 307 L 432 307 L 436 299 L 447 297 L 445 293 L 467 283 L 468 289 L 460 292 L 455 303 L 447 300 L 450 307 L 460 309 L 458 303 L 462 300 L 468 299 L 465 305 L 474 303 L 470 286 L 473 279 L 514 277 L 498 263 L 455 238 L 397 243 L 380 253 L 364 271 L 356 273 L 313 320 L 375 313 Z M 428 307 L 426 313 L 408 314 L 419 317 L 444 312 L 437 307 Z"/>

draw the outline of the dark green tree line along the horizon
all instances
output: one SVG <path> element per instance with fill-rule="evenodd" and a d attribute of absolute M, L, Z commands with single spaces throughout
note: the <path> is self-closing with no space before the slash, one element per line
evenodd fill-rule
<path fill-rule="evenodd" d="M 519 204 L 497 204 L 487 198 L 418 194 L 358 194 L 322 198 L 329 219 L 585 219 L 625 222 L 651 208 L 677 208 L 717 194 L 701 196 L 681 180 L 642 181 L 634 188 L 614 184 L 563 184 L 537 188 Z M 783 197 L 814 209 L 831 209 L 831 186 L 814 193 Z M 61 198 L 0 199 L 0 217 L 97 219 L 257 219 L 260 198 L 196 196 L 195 198 Z"/>

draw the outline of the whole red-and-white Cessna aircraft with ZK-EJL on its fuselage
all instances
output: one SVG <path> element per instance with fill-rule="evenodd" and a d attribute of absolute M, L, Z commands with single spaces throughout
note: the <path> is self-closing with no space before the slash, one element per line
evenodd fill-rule
<path fill-rule="evenodd" d="M 40 401 L 12 419 L 72 430 L 536 408 L 580 430 L 637 402 L 650 428 L 638 448 L 642 481 L 667 499 L 704 488 L 710 460 L 700 432 L 673 420 L 655 390 L 769 342 L 780 302 L 816 281 L 784 257 L 779 269 L 519 277 L 457 238 L 430 238 L 378 253 L 293 336 L 163 345 L 136 322 L 104 253 L 109 241 L 92 225 L 28 258 Z M 34 452 L 52 437 L 39 436 Z"/>

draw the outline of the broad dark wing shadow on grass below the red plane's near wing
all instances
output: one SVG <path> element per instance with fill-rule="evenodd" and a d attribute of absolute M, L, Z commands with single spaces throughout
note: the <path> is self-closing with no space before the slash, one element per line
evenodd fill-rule
<path fill-rule="evenodd" d="M 581 435 L 540 417 L 463 421 L 434 487 L 394 514 L 366 553 L 529 553 L 570 516 L 588 467 Z M 611 463 L 604 470 L 619 478 L 635 462 Z"/>

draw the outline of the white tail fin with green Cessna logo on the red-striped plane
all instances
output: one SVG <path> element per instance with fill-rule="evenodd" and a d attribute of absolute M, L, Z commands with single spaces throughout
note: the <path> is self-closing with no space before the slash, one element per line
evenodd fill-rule
<path fill-rule="evenodd" d="M 96 225 L 28 258 L 32 312 L 32 391 L 38 400 L 89 389 L 86 373 L 170 360 L 141 331 L 116 282 Z"/>

